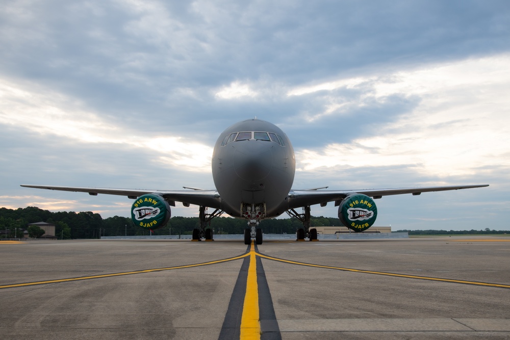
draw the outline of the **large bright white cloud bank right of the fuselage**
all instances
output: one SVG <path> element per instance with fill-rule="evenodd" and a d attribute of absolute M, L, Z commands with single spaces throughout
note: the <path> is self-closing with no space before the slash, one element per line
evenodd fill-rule
<path fill-rule="evenodd" d="M 299 168 L 412 164 L 420 172 L 462 176 L 475 173 L 485 164 L 510 165 L 505 156 L 510 142 L 510 101 L 505 96 L 510 85 L 509 69 L 510 55 L 505 54 L 291 90 L 289 95 L 304 95 L 362 87 L 361 96 L 343 102 L 333 112 L 327 109 L 315 119 L 354 115 L 342 106 L 360 107 L 366 98 L 383 106 L 392 96 L 420 98 L 419 104 L 398 120 L 378 124 L 375 136 L 365 133 L 347 143 L 303 148 L 298 152 Z M 351 127 L 362 130 L 370 123 L 360 119 Z"/>

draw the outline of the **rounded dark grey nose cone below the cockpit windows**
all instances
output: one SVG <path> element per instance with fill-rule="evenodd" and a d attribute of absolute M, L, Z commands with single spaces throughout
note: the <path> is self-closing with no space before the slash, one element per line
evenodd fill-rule
<path fill-rule="evenodd" d="M 249 181 L 264 179 L 271 171 L 273 162 L 271 147 L 262 141 L 240 141 L 234 153 L 234 169 L 237 175 Z M 269 143 L 267 143 L 269 144 Z"/>

